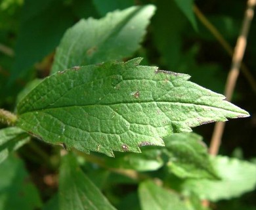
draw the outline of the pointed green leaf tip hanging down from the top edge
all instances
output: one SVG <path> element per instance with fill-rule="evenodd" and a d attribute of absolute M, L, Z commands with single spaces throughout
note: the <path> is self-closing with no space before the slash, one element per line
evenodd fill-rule
<path fill-rule="evenodd" d="M 196 17 L 193 12 L 194 0 L 174 0 L 174 1 L 179 7 L 179 9 L 181 9 L 183 14 L 186 16 L 186 18 L 188 18 L 194 30 L 198 31 L 198 25 L 196 24 Z"/>

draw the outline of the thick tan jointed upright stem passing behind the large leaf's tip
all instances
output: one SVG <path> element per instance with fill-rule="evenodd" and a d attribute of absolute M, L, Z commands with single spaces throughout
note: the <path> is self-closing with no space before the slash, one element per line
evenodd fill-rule
<path fill-rule="evenodd" d="M 234 92 L 234 87 L 236 86 L 236 81 L 239 75 L 239 69 L 244 57 L 244 51 L 247 44 L 247 35 L 249 28 L 251 26 L 251 20 L 253 18 L 253 9 L 256 5 L 256 0 L 247 1 L 247 9 L 245 11 L 244 22 L 242 24 L 242 30 L 236 42 L 236 47 L 234 50 L 234 55 L 232 58 L 232 64 L 230 72 L 228 73 L 228 78 L 226 79 L 226 87 L 224 95 L 226 100 L 230 101 L 232 94 Z M 217 122 L 213 130 L 213 137 L 211 138 L 211 145 L 209 148 L 209 153 L 215 156 L 219 151 L 219 146 L 221 145 L 221 138 L 224 131 L 224 122 Z"/>

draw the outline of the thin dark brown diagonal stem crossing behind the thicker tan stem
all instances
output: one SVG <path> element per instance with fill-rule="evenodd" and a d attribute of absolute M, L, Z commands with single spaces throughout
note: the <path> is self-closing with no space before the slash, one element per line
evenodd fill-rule
<path fill-rule="evenodd" d="M 217 28 L 215 28 L 215 26 L 213 26 L 213 24 L 211 24 L 211 22 L 207 20 L 207 18 L 203 15 L 203 13 L 200 11 L 200 9 L 196 5 L 194 5 L 193 10 L 196 16 L 198 17 L 198 19 L 205 26 L 205 28 L 207 28 L 212 33 L 212 35 L 217 39 L 217 41 L 219 41 L 223 49 L 232 57 L 234 54 L 234 51 L 232 47 L 228 44 L 228 42 L 224 39 L 223 35 L 221 35 L 221 33 L 217 30 Z M 253 75 L 249 72 L 244 62 L 242 62 L 241 71 L 245 79 L 247 79 L 249 85 L 251 85 L 251 89 L 253 89 L 253 91 L 256 93 L 256 81 L 253 78 Z"/>

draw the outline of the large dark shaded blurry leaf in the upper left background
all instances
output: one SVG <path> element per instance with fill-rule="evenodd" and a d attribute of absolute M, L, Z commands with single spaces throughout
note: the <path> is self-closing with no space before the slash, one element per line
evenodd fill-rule
<path fill-rule="evenodd" d="M 62 0 L 25 1 L 12 80 L 28 74 L 31 66 L 54 51 L 64 31 L 74 23 Z M 26 49 L 26 51 L 24 51 Z"/>

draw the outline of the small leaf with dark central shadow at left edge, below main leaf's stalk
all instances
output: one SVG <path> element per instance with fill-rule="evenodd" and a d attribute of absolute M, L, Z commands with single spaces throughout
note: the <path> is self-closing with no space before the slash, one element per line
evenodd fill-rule
<path fill-rule="evenodd" d="M 0 130 L 0 163 L 11 152 L 18 150 L 30 140 L 28 134 L 18 127 L 8 127 Z"/>

